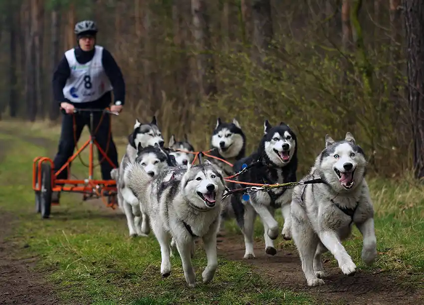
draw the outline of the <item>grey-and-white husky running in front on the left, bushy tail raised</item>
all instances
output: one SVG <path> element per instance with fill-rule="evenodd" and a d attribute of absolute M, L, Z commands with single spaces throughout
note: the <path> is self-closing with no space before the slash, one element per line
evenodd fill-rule
<path fill-rule="evenodd" d="M 204 283 L 212 280 L 218 266 L 216 233 L 224 184 L 222 176 L 210 162 L 195 166 L 189 163 L 184 167 L 169 167 L 150 179 L 139 163 L 131 162 L 125 174 L 128 187 L 147 207 L 150 226 L 161 246 L 162 276 L 167 277 L 171 273 L 170 240 L 174 238 L 186 282 L 193 288 L 197 283 L 191 248 L 196 237 L 202 237 L 208 259 L 202 274 Z M 175 174 L 175 171 L 179 173 Z"/>

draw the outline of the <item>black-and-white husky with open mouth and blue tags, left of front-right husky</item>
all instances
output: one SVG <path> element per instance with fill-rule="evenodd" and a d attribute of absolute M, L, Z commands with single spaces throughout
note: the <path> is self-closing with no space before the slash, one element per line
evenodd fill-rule
<path fill-rule="evenodd" d="M 255 163 L 248 171 L 240 174 L 238 181 L 276 184 L 296 181 L 297 170 L 297 142 L 296 135 L 289 126 L 280 123 L 272 127 L 268 120 L 264 122 L 264 135 L 256 152 L 238 160 L 234 164 L 236 172 L 241 170 L 243 163 Z M 237 184 L 238 187 L 245 187 Z M 273 240 L 278 236 L 278 223 L 274 219 L 275 209 L 281 207 L 284 217 L 283 237 L 290 239 L 290 201 L 291 189 L 277 188 L 269 192 L 251 192 L 245 203 L 241 194 L 231 197 L 231 208 L 235 214 L 237 224 L 244 235 L 245 259 L 254 258 L 253 253 L 253 226 L 256 214 L 262 221 L 264 228 L 265 252 L 275 255 Z M 243 200 L 244 201 L 244 200 Z"/>

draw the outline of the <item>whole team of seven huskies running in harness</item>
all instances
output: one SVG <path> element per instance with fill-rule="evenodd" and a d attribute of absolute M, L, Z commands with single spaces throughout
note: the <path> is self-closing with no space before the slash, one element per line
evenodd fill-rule
<path fill-rule="evenodd" d="M 363 235 L 362 260 L 376 258 L 374 210 L 366 173 L 366 156 L 351 133 L 344 140 L 325 137 L 325 146 L 309 173 L 300 181 L 319 183 L 250 192 L 248 199 L 229 189 L 246 185 L 238 182 L 277 184 L 297 181 L 297 138 L 281 122 L 264 122 L 263 136 L 256 151 L 245 155 L 246 137 L 237 120 L 219 118 L 211 137 L 212 151 L 202 164 L 192 165 L 195 154 L 187 135 L 168 145 L 153 117 L 150 123 L 136 120 L 119 168 L 112 170 L 117 181 L 118 205 L 125 213 L 130 236 L 147 236 L 152 229 L 161 247 L 161 274 L 171 273 L 170 257 L 177 248 L 189 287 L 196 287 L 192 258 L 195 239 L 201 238 L 207 256 L 202 273 L 209 283 L 217 268 L 216 235 L 227 219 L 234 218 L 244 236 L 245 259 L 255 257 L 253 227 L 257 215 L 263 224 L 265 252 L 275 255 L 274 240 L 279 224 L 274 218 L 281 208 L 284 239 L 293 239 L 309 286 L 324 284 L 321 255 L 330 251 L 345 275 L 355 273 L 356 265 L 341 241 L 349 237 L 355 224 Z M 224 162 L 227 161 L 230 164 Z M 231 182 L 246 165 L 249 168 Z M 246 200 L 244 200 L 246 199 Z"/>

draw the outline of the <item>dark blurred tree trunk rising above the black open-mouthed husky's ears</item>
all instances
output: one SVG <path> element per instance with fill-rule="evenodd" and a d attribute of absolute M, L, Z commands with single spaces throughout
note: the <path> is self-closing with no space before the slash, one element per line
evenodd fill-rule
<path fill-rule="evenodd" d="M 270 0 L 253 0 L 253 57 L 262 67 L 273 37 Z"/>

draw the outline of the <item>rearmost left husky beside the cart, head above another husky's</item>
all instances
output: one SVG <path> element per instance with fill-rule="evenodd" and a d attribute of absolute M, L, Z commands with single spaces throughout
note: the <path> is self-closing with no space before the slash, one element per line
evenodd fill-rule
<path fill-rule="evenodd" d="M 136 228 L 134 227 L 134 220 L 131 216 L 131 206 L 130 203 L 126 201 L 126 199 L 123 196 L 123 193 L 130 194 L 130 190 L 126 188 L 125 183 L 123 181 L 124 176 L 124 168 L 125 165 L 135 160 L 137 157 L 137 148 L 139 145 L 141 147 L 148 147 L 148 146 L 154 146 L 155 144 L 158 144 L 159 146 L 163 147 L 164 145 L 164 138 L 162 137 L 162 133 L 159 130 L 158 122 L 156 120 L 156 117 L 153 116 L 152 122 L 149 123 L 140 123 L 138 119 L 136 119 L 136 123 L 134 124 L 134 130 L 133 132 L 128 136 L 128 145 L 127 150 L 124 154 L 124 156 L 121 159 L 121 163 L 119 164 L 118 172 L 114 173 L 112 170 L 111 174 L 112 177 L 117 177 L 116 185 L 117 185 L 117 198 L 118 198 L 118 206 L 119 208 L 125 213 L 127 216 L 128 221 L 128 228 L 130 230 L 130 236 L 135 235 L 145 235 L 147 233 L 142 233 L 140 230 L 136 231 Z M 130 198 L 133 200 L 133 196 Z M 131 220 L 130 220 L 130 218 Z M 147 229 L 149 226 L 147 226 Z M 147 231 L 148 232 L 148 231 Z"/>

